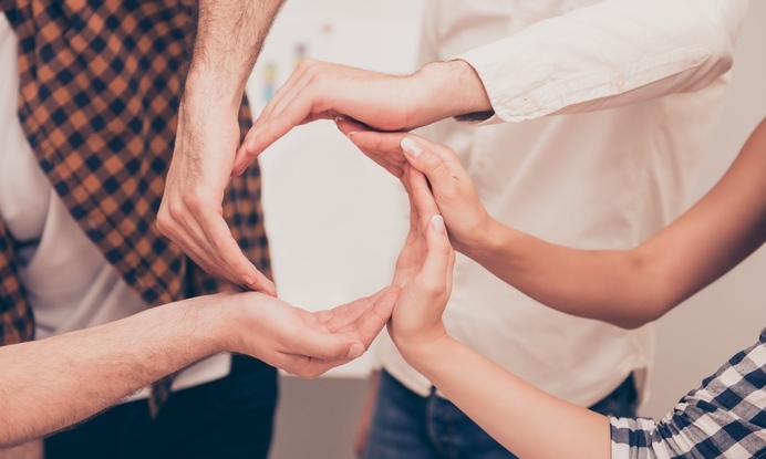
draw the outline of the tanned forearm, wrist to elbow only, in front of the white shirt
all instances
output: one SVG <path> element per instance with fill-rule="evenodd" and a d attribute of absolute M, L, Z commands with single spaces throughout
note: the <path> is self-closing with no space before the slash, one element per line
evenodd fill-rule
<path fill-rule="evenodd" d="M 557 246 L 493 220 L 463 252 L 503 281 L 558 311 L 635 327 L 658 319 L 666 299 L 638 251 Z"/>

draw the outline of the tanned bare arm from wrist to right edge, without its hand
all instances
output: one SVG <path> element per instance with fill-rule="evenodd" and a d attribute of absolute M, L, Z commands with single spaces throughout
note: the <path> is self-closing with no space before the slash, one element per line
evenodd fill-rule
<path fill-rule="evenodd" d="M 577 250 L 491 220 L 460 250 L 556 310 L 634 327 L 662 316 L 766 240 L 762 122 L 718 184 L 635 249 Z"/>

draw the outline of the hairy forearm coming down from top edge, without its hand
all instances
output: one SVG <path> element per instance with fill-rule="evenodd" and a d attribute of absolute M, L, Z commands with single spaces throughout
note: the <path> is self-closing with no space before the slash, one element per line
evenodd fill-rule
<path fill-rule="evenodd" d="M 201 0 L 185 98 L 237 109 L 284 0 Z"/>

